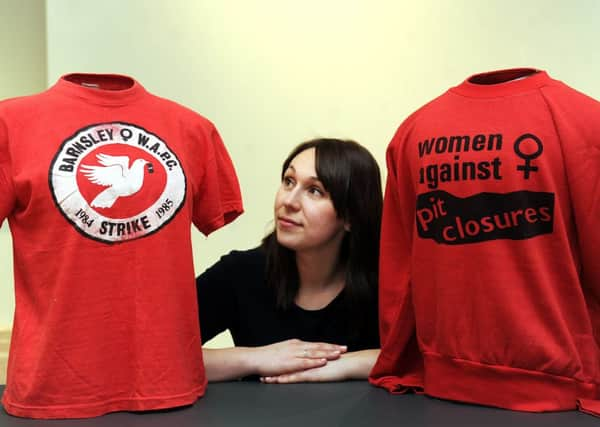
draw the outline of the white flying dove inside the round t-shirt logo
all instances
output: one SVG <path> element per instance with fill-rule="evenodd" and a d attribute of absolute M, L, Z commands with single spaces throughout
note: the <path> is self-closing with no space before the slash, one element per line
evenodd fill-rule
<path fill-rule="evenodd" d="M 81 171 L 94 184 L 108 187 L 92 200 L 92 207 L 110 208 L 119 197 L 137 193 L 144 184 L 144 159 L 137 159 L 129 167 L 129 157 L 96 155 L 102 166 L 81 165 Z"/>

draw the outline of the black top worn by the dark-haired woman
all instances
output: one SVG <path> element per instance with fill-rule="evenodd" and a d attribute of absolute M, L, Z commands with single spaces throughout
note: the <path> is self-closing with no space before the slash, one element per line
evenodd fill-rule
<path fill-rule="evenodd" d="M 265 263 L 260 247 L 232 251 L 196 279 L 202 342 L 229 329 L 236 346 L 298 338 L 347 345 L 349 351 L 379 348 L 376 299 L 365 307 L 366 333 L 353 339 L 352 313 L 345 308 L 344 291 L 320 310 L 304 310 L 295 304 L 279 310 L 265 281 Z"/>

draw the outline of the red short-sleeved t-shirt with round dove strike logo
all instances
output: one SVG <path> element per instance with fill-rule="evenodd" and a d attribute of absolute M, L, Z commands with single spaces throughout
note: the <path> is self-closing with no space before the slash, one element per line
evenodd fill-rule
<path fill-rule="evenodd" d="M 2 403 L 79 418 L 193 403 L 206 377 L 190 240 L 242 211 L 211 122 L 126 76 L 0 103 L 16 308 Z"/>

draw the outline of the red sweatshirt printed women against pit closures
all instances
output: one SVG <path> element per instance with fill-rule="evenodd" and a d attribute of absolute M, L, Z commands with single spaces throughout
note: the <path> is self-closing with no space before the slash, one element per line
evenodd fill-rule
<path fill-rule="evenodd" d="M 402 123 L 387 166 L 370 381 L 597 413 L 600 103 L 543 71 L 472 76 Z"/>

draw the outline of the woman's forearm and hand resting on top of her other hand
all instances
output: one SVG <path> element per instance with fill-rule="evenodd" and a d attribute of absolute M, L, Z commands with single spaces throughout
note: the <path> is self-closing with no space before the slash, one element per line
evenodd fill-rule
<path fill-rule="evenodd" d="M 228 381 L 317 368 L 339 359 L 346 350 L 342 345 L 291 339 L 262 347 L 204 348 L 202 354 L 208 381 Z"/>

